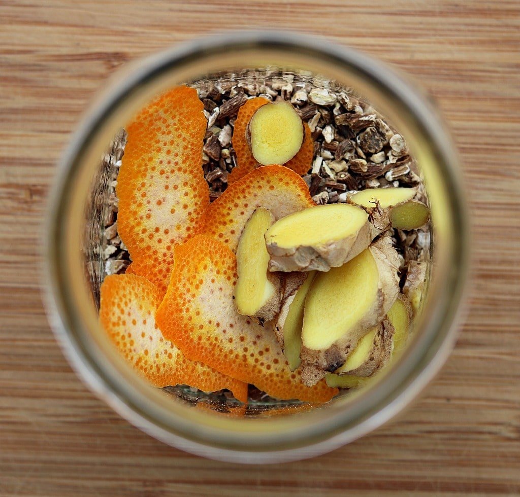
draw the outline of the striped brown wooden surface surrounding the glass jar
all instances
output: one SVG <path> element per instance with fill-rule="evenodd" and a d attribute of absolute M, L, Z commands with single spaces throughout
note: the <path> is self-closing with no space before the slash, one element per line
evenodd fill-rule
<path fill-rule="evenodd" d="M 0 495 L 518 495 L 520 4 L 515 0 L 0 0 Z M 38 289 L 46 194 L 90 98 L 121 64 L 201 33 L 327 35 L 437 99 L 474 215 L 456 350 L 398 421 L 319 458 L 242 467 L 141 433 L 76 378 Z"/>

